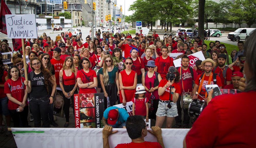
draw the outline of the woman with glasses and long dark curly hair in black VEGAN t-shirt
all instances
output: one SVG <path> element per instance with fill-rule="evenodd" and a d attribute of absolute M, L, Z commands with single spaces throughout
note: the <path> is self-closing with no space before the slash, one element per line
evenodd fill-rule
<path fill-rule="evenodd" d="M 52 74 L 42 66 L 38 57 L 30 60 L 33 71 L 28 75 L 28 81 L 24 81 L 26 90 L 30 93 L 30 109 L 34 116 L 34 127 L 50 127 L 49 104 L 53 103 L 53 96 L 56 90 L 56 83 Z M 40 92 L 40 93 L 39 93 Z"/>

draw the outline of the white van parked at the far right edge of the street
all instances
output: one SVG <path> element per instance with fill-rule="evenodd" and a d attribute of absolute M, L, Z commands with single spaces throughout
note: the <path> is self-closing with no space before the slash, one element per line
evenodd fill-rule
<path fill-rule="evenodd" d="M 255 30 L 256 28 L 238 28 L 234 32 L 230 32 L 229 35 L 227 36 L 228 39 L 232 40 L 232 38 L 235 35 L 239 36 L 240 40 L 245 40 L 246 36 L 249 36 L 250 33 Z"/>

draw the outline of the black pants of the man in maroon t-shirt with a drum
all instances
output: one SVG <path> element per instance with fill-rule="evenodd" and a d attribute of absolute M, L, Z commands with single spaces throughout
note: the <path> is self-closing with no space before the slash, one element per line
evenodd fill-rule
<path fill-rule="evenodd" d="M 175 117 L 175 121 L 177 125 L 181 125 L 182 119 L 181 119 L 181 113 L 182 113 L 182 108 L 181 108 L 181 96 L 179 96 L 178 101 L 177 101 L 177 109 L 178 109 L 178 116 Z M 190 117 L 188 116 L 188 109 L 183 109 L 184 112 L 184 120 L 183 124 L 189 124 Z"/>

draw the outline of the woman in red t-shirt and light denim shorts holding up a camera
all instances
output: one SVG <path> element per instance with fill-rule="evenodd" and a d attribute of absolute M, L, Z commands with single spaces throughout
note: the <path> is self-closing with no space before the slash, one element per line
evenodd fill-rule
<path fill-rule="evenodd" d="M 166 79 L 162 79 L 158 85 L 159 104 L 156 112 L 156 126 L 162 127 L 166 119 L 166 128 L 172 128 L 174 117 L 178 116 L 176 102 L 181 87 L 179 86 L 179 72 L 174 66 L 170 66 Z"/>

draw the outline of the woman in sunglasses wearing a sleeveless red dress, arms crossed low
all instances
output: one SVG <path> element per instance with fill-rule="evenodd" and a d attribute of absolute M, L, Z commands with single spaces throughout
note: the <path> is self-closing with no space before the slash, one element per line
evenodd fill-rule
<path fill-rule="evenodd" d="M 137 73 L 131 70 L 133 61 L 130 57 L 125 59 L 125 70 L 119 73 L 120 102 L 126 106 L 126 102 L 134 99 L 137 85 Z"/>

